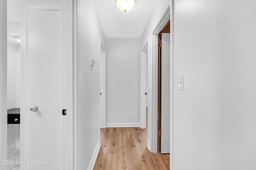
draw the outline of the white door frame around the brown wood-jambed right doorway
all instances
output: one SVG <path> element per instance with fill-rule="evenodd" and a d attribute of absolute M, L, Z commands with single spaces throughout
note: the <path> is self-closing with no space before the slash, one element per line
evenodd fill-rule
<path fill-rule="evenodd" d="M 148 51 L 148 149 L 151 152 L 157 152 L 157 112 L 158 112 L 158 33 L 171 19 L 170 27 L 170 170 L 173 170 L 173 72 L 174 72 L 174 58 L 173 58 L 173 31 L 174 31 L 174 0 L 168 0 L 164 10 L 158 18 L 153 31 L 150 34 L 150 50 Z M 150 127 L 149 127 L 150 126 Z"/>

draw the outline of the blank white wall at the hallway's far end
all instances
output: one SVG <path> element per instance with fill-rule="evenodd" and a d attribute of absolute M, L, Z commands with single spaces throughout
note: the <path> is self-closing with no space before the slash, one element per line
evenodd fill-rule
<path fill-rule="evenodd" d="M 140 126 L 140 39 L 106 38 L 106 126 Z"/>

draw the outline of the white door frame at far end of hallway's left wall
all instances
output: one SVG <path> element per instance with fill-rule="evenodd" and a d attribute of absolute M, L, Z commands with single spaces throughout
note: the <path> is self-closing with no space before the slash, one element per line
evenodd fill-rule
<path fill-rule="evenodd" d="M 103 60 L 103 61 L 102 61 Z M 103 64 L 102 64 L 103 62 Z M 103 75 L 102 75 L 103 73 Z M 106 47 L 100 37 L 100 128 L 106 128 Z M 103 98 L 103 101 L 102 101 Z"/>

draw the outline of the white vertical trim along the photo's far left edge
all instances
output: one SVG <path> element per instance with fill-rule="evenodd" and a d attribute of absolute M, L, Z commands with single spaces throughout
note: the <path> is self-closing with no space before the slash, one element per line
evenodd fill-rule
<path fill-rule="evenodd" d="M 7 160 L 7 5 L 0 1 L 0 160 Z M 6 165 L 0 165 L 6 169 Z"/>

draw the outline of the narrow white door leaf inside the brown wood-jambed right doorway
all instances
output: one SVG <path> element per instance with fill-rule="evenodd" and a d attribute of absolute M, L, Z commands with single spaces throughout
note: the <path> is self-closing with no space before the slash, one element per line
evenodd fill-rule
<path fill-rule="evenodd" d="M 162 33 L 161 153 L 170 153 L 170 33 Z"/>

